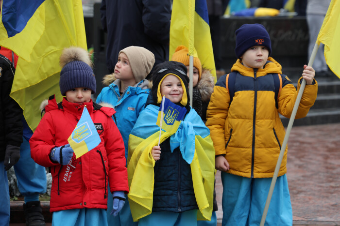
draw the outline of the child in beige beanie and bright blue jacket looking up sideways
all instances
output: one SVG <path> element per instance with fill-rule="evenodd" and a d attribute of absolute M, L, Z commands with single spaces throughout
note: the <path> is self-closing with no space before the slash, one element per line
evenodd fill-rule
<path fill-rule="evenodd" d="M 116 110 L 116 124 L 124 140 L 125 158 L 127 158 L 129 134 L 134 127 L 139 113 L 144 109 L 150 89 L 145 77 L 154 64 L 153 53 L 146 48 L 129 46 L 119 52 L 114 75 L 106 75 L 104 81 L 112 83 L 102 89 L 97 97 L 97 103 L 113 105 Z M 115 80 L 114 80 L 115 79 Z M 104 104 L 105 103 L 105 104 Z M 133 222 L 129 203 L 126 202 L 118 217 L 111 212 L 112 199 L 108 199 L 107 220 L 109 225 L 132 226 Z"/>

